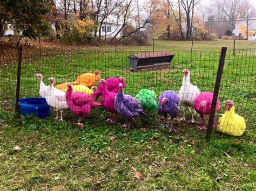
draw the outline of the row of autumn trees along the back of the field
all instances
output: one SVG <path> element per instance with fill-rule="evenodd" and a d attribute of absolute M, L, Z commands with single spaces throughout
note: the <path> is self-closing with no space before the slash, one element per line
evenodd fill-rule
<path fill-rule="evenodd" d="M 231 36 L 240 20 L 247 20 L 241 30 L 248 38 L 255 18 L 247 0 L 2 0 L 0 10 L 0 35 L 11 26 L 21 37 L 86 43 L 221 38 Z M 107 33 L 107 25 L 117 27 Z"/>

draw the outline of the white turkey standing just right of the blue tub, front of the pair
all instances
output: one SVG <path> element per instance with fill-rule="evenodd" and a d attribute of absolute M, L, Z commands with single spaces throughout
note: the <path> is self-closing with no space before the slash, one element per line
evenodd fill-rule
<path fill-rule="evenodd" d="M 63 121 L 62 113 L 64 110 L 68 109 L 68 103 L 66 103 L 66 93 L 64 91 L 61 91 L 57 88 L 55 88 L 54 82 L 55 79 L 53 77 L 49 78 L 50 80 L 50 88 L 48 90 L 48 93 L 46 94 L 46 102 L 56 110 L 57 115 L 55 119 L 58 119 L 58 111 L 60 111 L 60 121 Z"/>

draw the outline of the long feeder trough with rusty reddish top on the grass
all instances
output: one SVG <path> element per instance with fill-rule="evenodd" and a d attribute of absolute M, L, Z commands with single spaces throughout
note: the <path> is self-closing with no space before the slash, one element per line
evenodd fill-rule
<path fill-rule="evenodd" d="M 128 56 L 130 69 L 161 68 L 169 67 L 174 54 L 172 52 L 145 52 Z"/>

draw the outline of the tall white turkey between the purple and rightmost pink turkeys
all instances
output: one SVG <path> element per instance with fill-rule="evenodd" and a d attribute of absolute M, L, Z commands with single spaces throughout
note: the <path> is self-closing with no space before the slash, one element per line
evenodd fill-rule
<path fill-rule="evenodd" d="M 197 86 L 194 86 L 193 84 L 190 83 L 190 71 L 188 69 L 183 70 L 183 81 L 182 81 L 182 86 L 180 87 L 179 90 L 179 101 L 181 105 L 184 107 L 184 113 L 183 117 L 180 119 L 180 121 L 186 121 L 185 115 L 186 115 L 186 110 L 187 108 L 190 108 L 192 112 L 192 118 L 191 121 L 192 123 L 196 122 L 194 120 L 194 100 L 196 99 L 197 95 L 200 94 L 200 91 Z"/>

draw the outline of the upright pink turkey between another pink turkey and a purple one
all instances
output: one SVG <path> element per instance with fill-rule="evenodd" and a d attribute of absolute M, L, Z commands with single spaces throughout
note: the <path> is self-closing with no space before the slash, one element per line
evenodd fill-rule
<path fill-rule="evenodd" d="M 107 90 L 106 87 L 106 80 L 101 79 L 99 80 L 99 85 L 102 87 L 102 105 L 105 109 L 111 112 L 110 115 L 110 122 L 116 123 L 116 114 L 117 112 L 114 110 L 114 98 L 116 97 L 117 93 L 113 93 Z M 113 119 L 114 115 L 114 119 Z"/>

